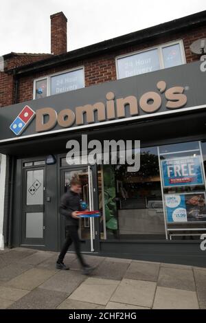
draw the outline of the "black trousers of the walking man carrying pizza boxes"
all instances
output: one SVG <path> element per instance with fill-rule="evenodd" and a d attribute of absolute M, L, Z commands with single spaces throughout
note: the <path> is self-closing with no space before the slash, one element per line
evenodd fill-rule
<path fill-rule="evenodd" d="M 66 240 L 64 245 L 62 246 L 60 255 L 58 256 L 58 263 L 62 263 L 65 254 L 67 253 L 67 250 L 69 249 L 71 243 L 73 243 L 76 255 L 78 256 L 78 260 L 80 261 L 80 264 L 82 267 L 87 266 L 87 264 L 84 262 L 84 258 L 82 257 L 82 254 L 80 253 L 80 238 L 78 235 L 78 226 L 77 225 L 67 225 L 66 227 Z"/>

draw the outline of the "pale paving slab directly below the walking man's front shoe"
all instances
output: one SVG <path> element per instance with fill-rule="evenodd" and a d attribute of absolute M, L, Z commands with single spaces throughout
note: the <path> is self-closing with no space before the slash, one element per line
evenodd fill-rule
<path fill-rule="evenodd" d="M 87 278 L 76 291 L 73 291 L 69 300 L 106 305 L 118 284 L 117 280 Z"/>

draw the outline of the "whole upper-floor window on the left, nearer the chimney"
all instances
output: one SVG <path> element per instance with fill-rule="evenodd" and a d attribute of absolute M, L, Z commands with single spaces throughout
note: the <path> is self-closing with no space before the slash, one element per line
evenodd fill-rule
<path fill-rule="evenodd" d="M 84 67 L 34 80 L 34 99 L 84 87 Z"/>

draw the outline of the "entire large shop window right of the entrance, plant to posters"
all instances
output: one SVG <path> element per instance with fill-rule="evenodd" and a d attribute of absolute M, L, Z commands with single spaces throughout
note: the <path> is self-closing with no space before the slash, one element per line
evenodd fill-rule
<path fill-rule="evenodd" d="M 101 238 L 198 240 L 206 231 L 206 142 L 141 148 L 140 169 L 98 168 Z"/>

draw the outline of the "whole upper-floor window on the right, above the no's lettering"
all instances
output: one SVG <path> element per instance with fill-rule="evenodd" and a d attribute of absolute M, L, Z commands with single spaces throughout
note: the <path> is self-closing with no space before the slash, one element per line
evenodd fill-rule
<path fill-rule="evenodd" d="M 117 57 L 117 78 L 128 78 L 184 63 L 183 42 L 166 43 L 152 49 Z"/>

